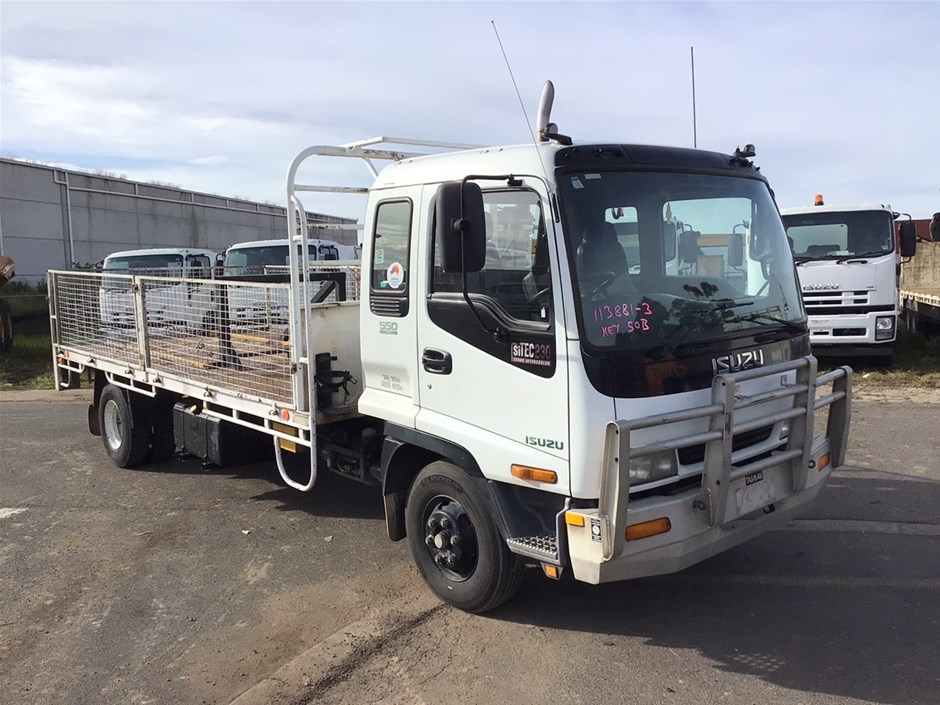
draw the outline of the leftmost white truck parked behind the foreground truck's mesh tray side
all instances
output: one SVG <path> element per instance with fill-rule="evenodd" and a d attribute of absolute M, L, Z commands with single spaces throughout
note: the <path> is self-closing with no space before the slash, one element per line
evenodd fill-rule
<path fill-rule="evenodd" d="M 105 257 L 98 304 L 101 326 L 110 333 L 133 333 L 132 276 L 142 276 L 147 299 L 147 328 L 153 332 L 198 330 L 212 299 L 216 253 L 190 247 L 124 250 Z M 205 284 L 198 280 L 205 279 Z M 194 281 L 195 280 L 195 281 Z"/>

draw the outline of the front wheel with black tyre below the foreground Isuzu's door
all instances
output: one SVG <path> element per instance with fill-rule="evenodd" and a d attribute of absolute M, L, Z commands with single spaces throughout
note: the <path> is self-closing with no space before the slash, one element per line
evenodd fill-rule
<path fill-rule="evenodd" d="M 447 462 L 425 467 L 405 508 L 408 545 L 438 597 L 467 612 L 486 612 L 519 588 L 522 561 L 506 547 L 473 480 Z"/>

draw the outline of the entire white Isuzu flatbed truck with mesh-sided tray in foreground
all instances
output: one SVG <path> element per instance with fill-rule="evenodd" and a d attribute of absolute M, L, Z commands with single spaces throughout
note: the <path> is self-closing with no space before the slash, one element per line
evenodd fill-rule
<path fill-rule="evenodd" d="M 151 337 L 155 283 L 135 276 L 139 335 L 114 340 L 82 325 L 100 275 L 50 272 L 56 366 L 93 370 L 107 454 L 222 464 L 260 445 L 299 490 L 327 471 L 377 483 L 390 538 L 473 612 L 526 563 L 588 583 L 668 573 L 804 511 L 844 460 L 851 370 L 817 376 L 753 148 L 576 143 L 551 103 L 546 84 L 532 144 L 299 154 L 289 282 L 217 282 L 285 290 L 283 324 L 233 329 L 222 297 L 214 330 Z M 349 159 L 373 178 L 343 189 L 367 199 L 361 270 L 317 271 L 297 255 L 303 200 L 340 190 L 321 177 Z"/>

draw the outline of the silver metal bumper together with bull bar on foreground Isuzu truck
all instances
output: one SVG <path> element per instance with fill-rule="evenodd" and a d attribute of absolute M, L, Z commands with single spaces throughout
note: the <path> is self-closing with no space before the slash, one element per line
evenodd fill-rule
<path fill-rule="evenodd" d="M 738 394 L 738 384 L 764 375 L 796 370 L 796 382 L 753 396 Z M 816 395 L 819 385 L 832 392 Z M 735 424 L 735 411 L 790 396 L 793 406 Z M 829 474 L 845 459 L 851 418 L 851 370 L 843 367 L 816 376 L 816 360 L 718 375 L 712 404 L 659 417 L 608 425 L 600 499 L 597 508 L 565 513 L 568 554 L 574 577 L 589 583 L 659 575 L 682 570 L 773 529 L 808 508 Z M 830 406 L 825 436 L 813 436 L 814 412 Z M 708 418 L 709 430 L 694 436 L 631 447 L 631 431 L 677 421 Z M 789 419 L 785 448 L 739 461 L 732 454 L 736 432 Z M 664 434 L 665 435 L 665 434 Z M 706 444 L 699 486 L 671 496 L 629 499 L 630 457 L 694 443 Z M 636 540 L 627 529 L 655 524 L 658 533 Z"/>

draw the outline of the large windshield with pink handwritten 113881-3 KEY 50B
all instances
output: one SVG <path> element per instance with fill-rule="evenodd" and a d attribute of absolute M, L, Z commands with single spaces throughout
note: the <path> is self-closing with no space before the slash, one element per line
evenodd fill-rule
<path fill-rule="evenodd" d="M 604 171 L 559 178 L 582 340 L 649 351 L 804 314 L 777 209 L 759 180 Z"/>

